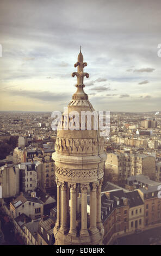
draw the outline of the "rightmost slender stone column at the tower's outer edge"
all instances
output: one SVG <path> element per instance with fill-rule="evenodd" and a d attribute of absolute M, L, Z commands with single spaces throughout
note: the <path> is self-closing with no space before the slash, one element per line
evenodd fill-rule
<path fill-rule="evenodd" d="M 100 230 L 102 228 L 101 221 L 101 187 L 102 187 L 103 179 L 100 180 L 100 184 L 97 186 L 97 218 L 96 224 L 97 228 Z"/>

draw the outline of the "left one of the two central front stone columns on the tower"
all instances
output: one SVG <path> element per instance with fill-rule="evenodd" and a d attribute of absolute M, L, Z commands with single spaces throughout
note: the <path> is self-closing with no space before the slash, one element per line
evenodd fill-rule
<path fill-rule="evenodd" d="M 77 193 L 76 193 L 76 184 L 69 184 L 70 187 L 70 230 L 71 235 L 77 234 L 76 232 L 76 202 L 77 202 Z"/>

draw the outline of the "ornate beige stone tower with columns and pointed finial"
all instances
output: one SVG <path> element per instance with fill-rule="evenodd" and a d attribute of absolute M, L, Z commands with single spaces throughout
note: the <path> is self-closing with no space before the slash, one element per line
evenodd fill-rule
<path fill-rule="evenodd" d="M 102 245 L 104 235 L 101 222 L 101 186 L 106 160 L 104 138 L 100 136 L 100 130 L 94 129 L 94 118 L 91 118 L 91 130 L 87 129 L 86 121 L 81 129 L 81 111 L 94 112 L 83 90 L 83 78 L 89 77 L 83 72 L 86 65 L 80 48 L 78 62 L 74 65 L 77 72 L 72 74 L 72 77 L 77 76 L 77 92 L 73 94 L 67 111 L 68 114 L 77 111 L 81 121 L 75 130 L 66 129 L 66 124 L 72 120 L 63 113 L 62 129 L 58 128 L 53 153 L 57 182 L 55 245 Z M 88 198 L 90 215 L 87 212 Z"/>

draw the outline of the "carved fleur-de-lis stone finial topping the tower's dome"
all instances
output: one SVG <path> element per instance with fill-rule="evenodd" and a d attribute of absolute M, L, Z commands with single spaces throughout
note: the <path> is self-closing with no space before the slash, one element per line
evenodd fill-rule
<path fill-rule="evenodd" d="M 88 99 L 88 95 L 84 93 L 83 87 L 85 87 L 83 80 L 84 80 L 84 76 L 86 76 L 86 78 L 89 78 L 89 74 L 86 72 L 83 72 L 84 67 L 87 66 L 86 62 L 83 62 L 83 54 L 81 52 L 81 46 L 80 46 L 80 52 L 78 54 L 78 61 L 77 63 L 75 63 L 74 67 L 77 67 L 77 72 L 73 72 L 72 73 L 72 77 L 77 76 L 77 84 L 76 87 L 77 92 L 73 95 L 72 99 L 80 99 L 80 100 L 84 100 L 84 99 Z"/>

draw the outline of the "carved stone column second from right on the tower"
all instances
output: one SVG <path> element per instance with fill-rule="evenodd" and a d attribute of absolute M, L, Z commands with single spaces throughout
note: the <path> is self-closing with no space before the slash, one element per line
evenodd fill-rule
<path fill-rule="evenodd" d="M 90 184 L 90 231 L 92 234 L 96 233 L 98 229 L 96 228 L 96 215 L 97 215 L 97 205 L 96 205 L 96 190 L 98 182 L 92 182 Z"/>

